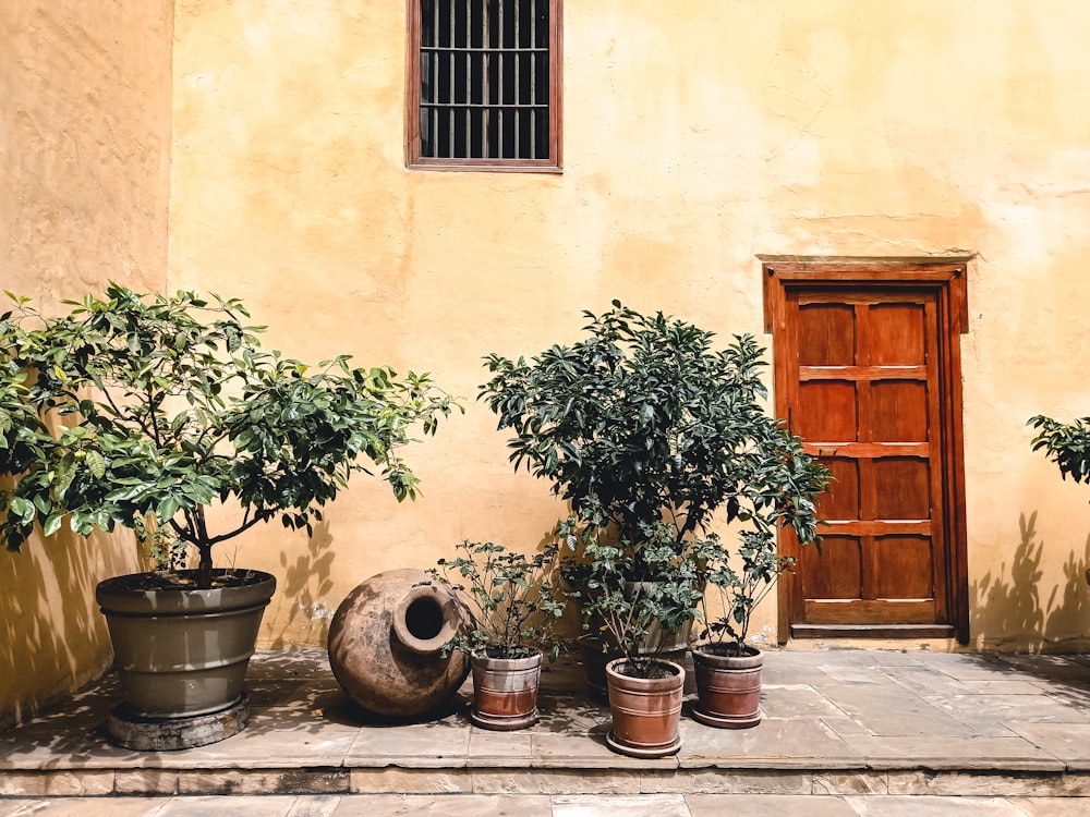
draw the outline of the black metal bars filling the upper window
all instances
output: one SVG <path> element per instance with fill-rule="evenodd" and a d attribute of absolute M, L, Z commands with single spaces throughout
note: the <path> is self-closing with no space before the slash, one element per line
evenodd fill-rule
<path fill-rule="evenodd" d="M 420 0 L 420 155 L 549 158 L 549 1 Z"/>

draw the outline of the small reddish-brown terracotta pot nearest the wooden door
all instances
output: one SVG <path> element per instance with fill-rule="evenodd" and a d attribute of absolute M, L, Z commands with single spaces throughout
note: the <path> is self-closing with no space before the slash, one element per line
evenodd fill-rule
<path fill-rule="evenodd" d="M 725 645 L 704 644 L 693 648 L 692 662 L 697 720 L 720 729 L 749 729 L 761 722 L 761 650 L 747 647 L 744 655 L 736 656 Z"/>

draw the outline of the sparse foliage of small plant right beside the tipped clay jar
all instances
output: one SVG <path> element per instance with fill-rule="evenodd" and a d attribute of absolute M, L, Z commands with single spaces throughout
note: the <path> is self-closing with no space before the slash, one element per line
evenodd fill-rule
<path fill-rule="evenodd" d="M 553 637 L 553 629 L 564 613 L 553 581 L 559 546 L 550 542 L 526 556 L 491 541 L 465 540 L 458 550 L 458 557 L 440 559 L 431 573 L 441 574 L 468 596 L 477 615 L 473 632 L 455 636 L 448 649 L 493 658 L 526 658 L 541 650 L 554 660 L 560 643 Z"/>

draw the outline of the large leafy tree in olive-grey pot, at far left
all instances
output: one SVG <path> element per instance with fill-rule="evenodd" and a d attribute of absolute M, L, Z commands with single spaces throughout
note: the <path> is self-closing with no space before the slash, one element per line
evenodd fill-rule
<path fill-rule="evenodd" d="M 237 300 L 111 284 L 47 317 L 12 298 L 0 316 L 0 473 L 11 477 L 0 537 L 19 550 L 36 529 L 124 527 L 195 550 L 195 570 L 98 587 L 125 696 L 110 731 L 138 748 L 232 734 L 276 582 L 215 569 L 213 548 L 277 517 L 311 533 L 365 462 L 399 500 L 415 498 L 398 450 L 411 426 L 434 432 L 457 402 L 427 376 L 353 368 L 347 355 L 312 370 L 266 352 Z"/>

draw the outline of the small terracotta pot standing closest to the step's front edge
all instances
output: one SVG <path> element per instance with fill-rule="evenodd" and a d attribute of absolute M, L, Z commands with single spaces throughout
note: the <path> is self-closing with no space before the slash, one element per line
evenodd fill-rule
<path fill-rule="evenodd" d="M 681 747 L 681 697 L 685 670 L 673 661 L 656 659 L 664 678 L 626 674 L 627 658 L 606 664 L 613 729 L 609 747 L 632 757 L 664 757 Z"/>

